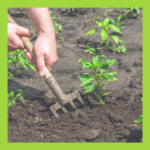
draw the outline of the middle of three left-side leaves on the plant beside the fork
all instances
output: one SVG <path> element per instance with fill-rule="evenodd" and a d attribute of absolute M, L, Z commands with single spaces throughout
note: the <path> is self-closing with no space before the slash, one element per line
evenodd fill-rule
<path fill-rule="evenodd" d="M 95 80 L 91 75 L 89 74 L 83 74 L 82 77 L 79 76 L 79 79 L 83 82 L 80 86 L 89 84 L 91 81 Z"/>

